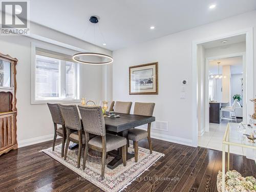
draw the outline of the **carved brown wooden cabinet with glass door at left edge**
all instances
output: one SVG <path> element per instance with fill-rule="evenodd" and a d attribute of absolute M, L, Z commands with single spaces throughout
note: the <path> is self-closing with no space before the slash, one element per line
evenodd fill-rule
<path fill-rule="evenodd" d="M 17 148 L 17 59 L 0 53 L 0 155 Z"/>

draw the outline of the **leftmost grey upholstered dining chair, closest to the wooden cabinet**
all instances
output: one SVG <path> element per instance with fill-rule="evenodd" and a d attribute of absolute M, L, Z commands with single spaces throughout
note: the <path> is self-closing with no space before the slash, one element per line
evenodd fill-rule
<path fill-rule="evenodd" d="M 52 151 L 54 151 L 55 142 L 57 135 L 62 137 L 61 142 L 61 157 L 64 156 L 64 148 L 65 148 L 65 142 L 66 142 L 66 127 L 65 127 L 65 121 L 61 115 L 59 104 L 57 103 L 47 103 L 48 108 L 50 110 L 50 113 L 52 115 L 52 121 L 54 125 L 54 137 L 53 137 L 53 143 L 52 143 Z M 57 127 L 57 125 L 61 125 L 61 127 Z"/>

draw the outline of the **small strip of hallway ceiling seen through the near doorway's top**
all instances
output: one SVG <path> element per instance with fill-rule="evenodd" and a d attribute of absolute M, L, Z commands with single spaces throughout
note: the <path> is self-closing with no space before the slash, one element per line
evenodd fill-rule
<path fill-rule="evenodd" d="M 224 40 L 226 41 L 225 43 L 222 42 Z M 232 44 L 238 44 L 239 42 L 245 42 L 245 41 L 246 41 L 246 35 L 243 34 L 243 35 L 237 35 L 237 36 L 233 36 L 233 37 L 228 37 L 228 38 L 205 42 L 204 44 L 202 44 L 202 46 L 204 47 L 204 49 L 211 49 L 211 48 L 216 48 L 216 47 L 228 48 Z"/>

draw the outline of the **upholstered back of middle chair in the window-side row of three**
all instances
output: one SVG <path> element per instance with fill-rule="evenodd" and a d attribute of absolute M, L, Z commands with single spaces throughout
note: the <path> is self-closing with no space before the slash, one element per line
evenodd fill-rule
<path fill-rule="evenodd" d="M 77 106 L 75 104 L 59 104 L 59 107 L 66 127 L 72 130 L 81 130 L 82 126 Z"/>

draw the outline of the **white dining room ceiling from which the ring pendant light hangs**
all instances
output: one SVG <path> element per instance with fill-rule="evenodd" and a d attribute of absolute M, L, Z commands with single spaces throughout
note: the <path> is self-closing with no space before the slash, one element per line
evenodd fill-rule
<path fill-rule="evenodd" d="M 211 4 L 216 8 L 209 9 Z M 34 0 L 30 5 L 32 22 L 110 50 L 256 9 L 255 0 Z M 100 17 L 105 40 L 97 28 L 94 40 L 91 15 Z"/>

